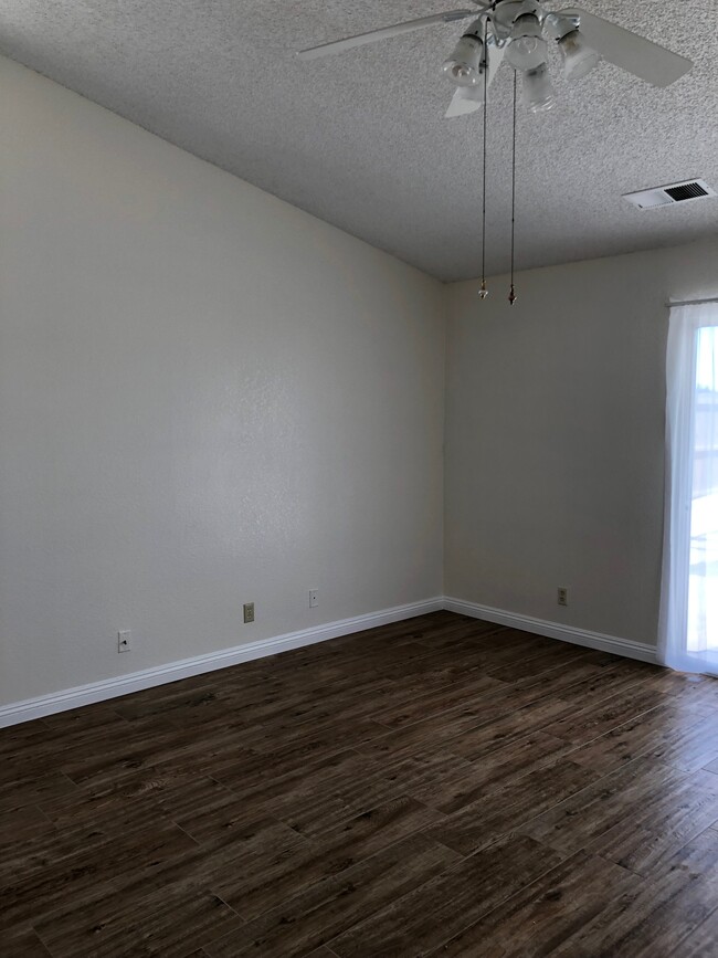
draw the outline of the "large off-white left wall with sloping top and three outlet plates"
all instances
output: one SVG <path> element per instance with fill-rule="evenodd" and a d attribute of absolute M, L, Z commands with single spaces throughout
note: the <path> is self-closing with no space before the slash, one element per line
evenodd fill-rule
<path fill-rule="evenodd" d="M 0 704 L 440 594 L 441 284 L 0 88 Z"/>

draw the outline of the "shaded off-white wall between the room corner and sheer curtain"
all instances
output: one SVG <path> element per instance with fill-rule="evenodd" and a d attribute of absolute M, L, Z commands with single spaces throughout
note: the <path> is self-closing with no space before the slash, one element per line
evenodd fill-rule
<path fill-rule="evenodd" d="M 665 302 L 718 295 L 717 264 L 712 241 L 535 270 L 513 308 L 507 277 L 450 288 L 447 596 L 655 644 Z"/>

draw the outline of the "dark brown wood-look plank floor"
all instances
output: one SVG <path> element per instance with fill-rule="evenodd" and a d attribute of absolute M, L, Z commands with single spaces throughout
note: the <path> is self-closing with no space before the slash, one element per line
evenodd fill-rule
<path fill-rule="evenodd" d="M 718 956 L 718 681 L 448 612 L 0 731 L 0 955 Z"/>

